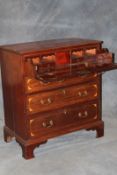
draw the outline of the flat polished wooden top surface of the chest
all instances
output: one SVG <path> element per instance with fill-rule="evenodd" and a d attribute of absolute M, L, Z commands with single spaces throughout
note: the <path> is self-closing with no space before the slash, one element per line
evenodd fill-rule
<path fill-rule="evenodd" d="M 49 51 L 54 49 L 72 48 L 75 46 L 86 46 L 101 44 L 102 41 L 81 39 L 81 38 L 66 38 L 66 39 L 52 39 L 36 42 L 18 43 L 1 46 L 3 50 L 9 50 L 17 54 L 29 54 L 39 51 Z"/>

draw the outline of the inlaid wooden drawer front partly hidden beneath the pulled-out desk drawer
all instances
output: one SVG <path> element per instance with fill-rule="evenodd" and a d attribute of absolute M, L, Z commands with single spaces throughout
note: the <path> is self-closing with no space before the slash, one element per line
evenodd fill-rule
<path fill-rule="evenodd" d="M 57 82 L 50 82 L 50 83 L 44 83 L 40 80 L 37 80 L 35 78 L 26 77 L 25 78 L 25 92 L 27 94 L 55 89 L 59 87 L 65 87 L 68 85 L 73 85 L 77 83 L 82 83 L 85 81 L 94 80 L 97 77 L 97 74 L 87 75 L 87 76 L 81 76 L 76 78 L 69 78 L 66 80 L 61 80 Z"/>

